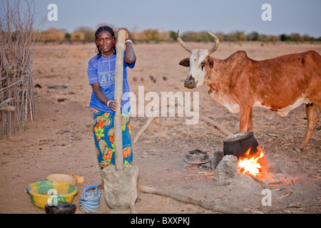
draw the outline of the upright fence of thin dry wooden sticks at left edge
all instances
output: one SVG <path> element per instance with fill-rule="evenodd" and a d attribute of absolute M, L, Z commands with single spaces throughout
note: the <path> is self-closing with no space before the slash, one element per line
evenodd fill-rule
<path fill-rule="evenodd" d="M 11 136 L 24 128 L 30 112 L 31 121 L 36 116 L 34 84 L 31 78 L 32 60 L 39 34 L 34 31 L 34 11 L 26 2 L 25 11 L 20 1 L 3 3 L 0 16 L 0 117 L 1 138 Z"/>

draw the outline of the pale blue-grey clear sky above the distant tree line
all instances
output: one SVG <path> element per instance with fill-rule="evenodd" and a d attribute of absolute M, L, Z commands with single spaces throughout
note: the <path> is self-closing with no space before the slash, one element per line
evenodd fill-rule
<path fill-rule="evenodd" d="M 4 1 L 4 0 L 0 0 Z M 23 0 L 22 0 L 23 1 Z M 27 0 L 28 1 L 28 0 Z M 321 36 L 321 0 L 34 0 L 42 30 L 51 26 L 68 32 L 80 26 L 96 30 L 111 24 L 128 31 L 257 31 L 266 35 L 300 33 Z M 57 21 L 49 21 L 49 4 L 57 6 Z M 270 4 L 271 21 L 262 14 Z M 267 16 L 267 14 L 265 14 Z"/>

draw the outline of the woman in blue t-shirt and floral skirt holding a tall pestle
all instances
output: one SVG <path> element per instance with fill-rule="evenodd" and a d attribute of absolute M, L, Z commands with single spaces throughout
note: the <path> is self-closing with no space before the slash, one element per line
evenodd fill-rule
<path fill-rule="evenodd" d="M 121 105 L 121 122 L 123 129 L 123 162 L 133 165 L 133 150 L 131 148 L 131 125 L 129 119 L 129 86 L 126 68 L 133 68 L 136 54 L 126 28 L 126 51 L 123 63 L 123 98 L 121 104 L 114 101 L 116 41 L 115 33 L 109 26 L 99 27 L 95 33 L 96 53 L 88 62 L 89 84 L 93 88 L 90 106 L 93 108 L 93 138 L 99 168 L 115 165 L 115 144 L 113 133 L 113 118 L 118 105 Z"/>

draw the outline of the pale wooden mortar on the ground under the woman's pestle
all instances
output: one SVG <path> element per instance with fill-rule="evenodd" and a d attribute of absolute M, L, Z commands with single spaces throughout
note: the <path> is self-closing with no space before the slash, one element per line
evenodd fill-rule
<path fill-rule="evenodd" d="M 103 194 L 111 214 L 133 214 L 137 198 L 138 167 L 125 165 L 121 171 L 115 166 L 102 170 Z"/>

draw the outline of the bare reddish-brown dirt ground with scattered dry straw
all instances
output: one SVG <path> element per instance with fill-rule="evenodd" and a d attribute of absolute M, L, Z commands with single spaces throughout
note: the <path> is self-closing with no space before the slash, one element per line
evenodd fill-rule
<path fill-rule="evenodd" d="M 210 48 L 213 43 L 190 43 L 194 48 Z M 77 205 L 82 190 L 88 185 L 100 185 L 96 151 L 93 145 L 92 110 L 89 107 L 91 86 L 86 75 L 88 60 L 95 55 L 94 44 L 61 44 L 39 46 L 34 60 L 36 120 L 26 121 L 24 129 L 0 140 L 0 213 L 44 214 L 44 209 L 31 203 L 26 187 L 46 180 L 54 173 L 74 173 L 84 177 L 73 199 Z M 238 133 L 240 114 L 229 113 L 215 103 L 205 86 L 188 90 L 183 80 L 188 68 L 179 66 L 189 57 L 178 43 L 136 44 L 137 62 L 128 70 L 133 93 L 144 86 L 144 94 L 161 92 L 198 92 L 200 115 Z M 215 58 L 227 58 L 235 51 L 247 51 L 250 58 L 262 60 L 287 53 L 315 50 L 320 44 L 297 43 L 224 43 L 213 53 Z M 153 78 L 153 80 L 152 80 Z M 191 93 L 193 95 L 193 93 Z M 161 97 L 161 96 L 160 96 Z M 160 101 L 161 102 L 161 101 Z M 149 103 L 145 100 L 145 104 Z M 177 108 L 177 107 L 176 107 Z M 320 110 L 318 110 L 321 120 Z M 132 139 L 148 118 L 132 117 Z M 269 162 L 270 180 L 282 181 L 272 187 L 271 205 L 263 205 L 263 187 L 250 177 L 247 181 L 226 186 L 216 185 L 213 170 L 208 165 L 188 165 L 183 157 L 190 150 L 203 150 L 213 155 L 223 150 L 225 135 L 217 128 L 199 120 L 186 125 L 184 117 L 159 117 L 133 144 L 134 162 L 138 166 L 138 185 L 185 195 L 193 199 L 215 202 L 227 207 L 255 209 L 263 213 L 320 214 L 321 195 L 321 122 L 303 152 L 292 152 L 300 144 L 307 120 L 301 105 L 286 117 L 260 108 L 253 109 L 253 132 Z M 138 214 L 210 214 L 218 213 L 168 197 L 138 192 L 135 204 Z M 108 213 L 103 195 L 97 213 Z"/>

